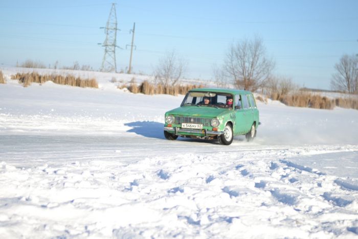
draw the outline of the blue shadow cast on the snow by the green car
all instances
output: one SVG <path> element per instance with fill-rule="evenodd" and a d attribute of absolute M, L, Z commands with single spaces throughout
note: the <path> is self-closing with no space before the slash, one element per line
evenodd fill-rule
<path fill-rule="evenodd" d="M 163 128 L 164 124 L 153 122 L 153 121 L 136 121 L 124 124 L 129 126 L 132 129 L 127 130 L 127 132 L 132 132 L 136 134 L 143 135 L 144 137 L 149 138 L 160 138 L 164 139 Z"/>

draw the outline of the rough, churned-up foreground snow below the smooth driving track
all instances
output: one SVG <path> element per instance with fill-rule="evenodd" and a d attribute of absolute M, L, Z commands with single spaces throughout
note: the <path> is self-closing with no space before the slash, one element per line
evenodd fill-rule
<path fill-rule="evenodd" d="M 0 219 L 13 222 L 9 236 L 18 235 L 18 227 L 24 235 L 45 237 L 109 237 L 122 235 L 122 228 L 145 231 L 144 237 L 348 236 L 357 219 L 356 190 L 277 160 L 284 153 L 187 153 L 28 169 L 2 162 L 8 184 L 2 186 Z"/>

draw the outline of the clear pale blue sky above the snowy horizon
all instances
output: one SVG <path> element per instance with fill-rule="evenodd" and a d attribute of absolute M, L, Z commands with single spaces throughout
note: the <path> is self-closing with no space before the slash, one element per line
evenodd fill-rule
<path fill-rule="evenodd" d="M 103 29 L 116 3 L 117 70 L 129 65 L 151 74 L 160 57 L 175 52 L 188 62 L 187 77 L 213 79 L 229 46 L 262 38 L 274 74 L 300 86 L 329 89 L 334 64 L 358 54 L 358 1 L 2 1 L 0 64 L 27 59 L 53 66 L 92 65 L 98 69 Z"/>

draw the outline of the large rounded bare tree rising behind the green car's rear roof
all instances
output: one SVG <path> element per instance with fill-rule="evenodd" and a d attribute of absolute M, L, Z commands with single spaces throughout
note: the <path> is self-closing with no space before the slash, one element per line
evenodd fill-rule
<path fill-rule="evenodd" d="M 269 79 L 275 63 L 266 58 L 261 38 L 232 44 L 224 68 L 234 85 L 245 90 L 256 90 Z"/>

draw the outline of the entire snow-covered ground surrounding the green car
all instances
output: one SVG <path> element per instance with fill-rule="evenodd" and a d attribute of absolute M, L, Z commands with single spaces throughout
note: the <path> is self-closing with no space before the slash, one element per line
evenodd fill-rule
<path fill-rule="evenodd" d="M 259 103 L 253 142 L 168 141 L 183 96 L 96 74 L 0 84 L 1 238 L 358 236 L 357 110 Z"/>

